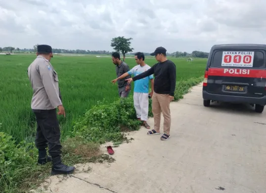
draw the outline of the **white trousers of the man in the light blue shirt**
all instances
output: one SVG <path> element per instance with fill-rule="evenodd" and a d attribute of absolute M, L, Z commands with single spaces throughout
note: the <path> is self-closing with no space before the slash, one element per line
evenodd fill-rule
<path fill-rule="evenodd" d="M 134 107 L 136 110 L 136 117 L 141 121 L 148 120 L 149 112 L 149 94 L 148 93 L 133 93 Z"/>

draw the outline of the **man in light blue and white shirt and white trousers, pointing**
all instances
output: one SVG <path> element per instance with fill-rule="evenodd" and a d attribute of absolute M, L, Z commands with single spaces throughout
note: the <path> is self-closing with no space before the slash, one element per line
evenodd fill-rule
<path fill-rule="evenodd" d="M 138 75 L 142 72 L 147 71 L 151 67 L 145 64 L 145 56 L 142 52 L 135 53 L 135 61 L 138 65 L 134 66 L 130 71 L 124 73 L 120 77 L 115 80 L 112 80 L 113 83 L 116 81 L 123 79 L 129 75 Z M 151 93 L 149 93 L 149 81 L 151 82 Z M 150 126 L 147 124 L 148 120 L 148 111 L 149 111 L 149 95 L 153 94 L 153 75 L 142 78 L 134 82 L 134 107 L 136 110 L 137 119 L 143 122 L 145 128 L 150 129 Z"/>

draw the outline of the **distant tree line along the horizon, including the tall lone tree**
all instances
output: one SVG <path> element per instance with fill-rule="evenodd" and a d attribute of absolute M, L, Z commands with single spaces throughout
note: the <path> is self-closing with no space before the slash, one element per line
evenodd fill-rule
<path fill-rule="evenodd" d="M 124 36 L 115 37 L 111 40 L 111 47 L 120 52 L 123 55 L 123 60 L 125 60 L 126 55 L 133 55 L 134 48 L 131 48 L 131 40 L 133 38 L 125 38 Z M 38 44 L 34 45 L 33 48 L 14 48 L 14 47 L 0 47 L 0 52 L 37 52 Z M 76 54 L 107 54 L 111 55 L 113 51 L 107 50 L 85 50 L 85 49 L 61 49 L 61 48 L 52 48 L 54 53 L 76 53 Z M 150 53 L 144 52 L 144 55 L 150 55 Z M 209 53 L 203 51 L 192 51 L 192 53 L 176 51 L 173 53 L 167 53 L 167 55 L 174 57 L 199 57 L 199 58 L 208 58 Z"/>

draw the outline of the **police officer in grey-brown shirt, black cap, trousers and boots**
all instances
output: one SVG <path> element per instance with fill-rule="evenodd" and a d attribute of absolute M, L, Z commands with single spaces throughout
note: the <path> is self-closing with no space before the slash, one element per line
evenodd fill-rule
<path fill-rule="evenodd" d="M 60 128 L 56 115 L 65 116 L 57 73 L 50 59 L 52 48 L 48 45 L 37 47 L 37 58 L 28 67 L 28 76 L 33 89 L 31 108 L 36 116 L 37 133 L 35 144 L 39 150 L 39 164 L 52 161 L 51 174 L 70 174 L 75 168 L 61 162 Z M 47 156 L 46 147 L 50 156 Z"/>

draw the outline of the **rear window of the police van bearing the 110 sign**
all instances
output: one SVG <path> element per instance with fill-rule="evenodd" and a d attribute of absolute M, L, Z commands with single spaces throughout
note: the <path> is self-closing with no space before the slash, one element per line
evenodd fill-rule
<path fill-rule="evenodd" d="M 254 59 L 253 59 L 253 66 L 243 66 L 243 64 L 245 64 L 243 62 L 244 58 L 241 58 L 241 62 L 239 63 L 240 66 L 230 66 L 230 63 L 234 63 L 233 62 L 233 58 L 231 56 L 225 56 L 226 59 L 228 59 L 228 61 L 231 61 L 230 63 L 226 63 L 226 66 L 222 66 L 222 63 L 223 63 L 223 59 L 222 58 L 222 54 L 224 51 L 228 51 L 230 52 L 231 50 L 219 50 L 219 51 L 215 51 L 214 52 L 214 56 L 211 60 L 211 66 L 212 67 L 232 67 L 232 68 L 264 68 L 265 67 L 265 54 L 264 52 L 262 51 L 254 51 Z M 243 52 L 243 50 L 233 50 L 235 52 Z M 244 50 L 245 52 L 248 52 L 246 50 Z M 235 58 L 235 61 L 237 61 L 237 59 L 239 59 L 240 57 L 236 57 Z M 247 58 L 247 61 L 248 61 L 248 58 Z"/>

